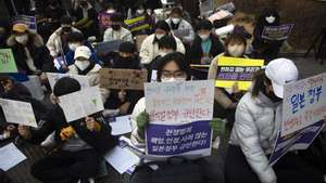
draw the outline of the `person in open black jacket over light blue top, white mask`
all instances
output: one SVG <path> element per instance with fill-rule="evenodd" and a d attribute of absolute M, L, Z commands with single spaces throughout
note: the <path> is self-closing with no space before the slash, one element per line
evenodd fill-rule
<path fill-rule="evenodd" d="M 202 19 L 197 25 L 197 35 L 187 53 L 187 61 L 192 64 L 211 64 L 213 57 L 224 52 L 224 47 L 217 36 L 212 34 L 213 25 Z"/>

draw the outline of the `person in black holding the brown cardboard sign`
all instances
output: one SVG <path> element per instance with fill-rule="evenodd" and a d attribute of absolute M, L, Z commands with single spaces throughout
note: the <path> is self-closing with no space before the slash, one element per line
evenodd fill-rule
<path fill-rule="evenodd" d="M 137 49 L 133 42 L 123 42 L 118 48 L 118 56 L 113 60 L 112 68 L 141 69 Z M 120 115 L 131 114 L 136 102 L 143 96 L 143 91 L 111 90 L 104 104 L 105 109 L 117 109 Z"/>

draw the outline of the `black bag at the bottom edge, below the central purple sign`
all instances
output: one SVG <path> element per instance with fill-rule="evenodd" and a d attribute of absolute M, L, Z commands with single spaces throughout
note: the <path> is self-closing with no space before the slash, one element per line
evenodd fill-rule
<path fill-rule="evenodd" d="M 130 183 L 204 183 L 204 178 L 198 160 L 172 157 L 138 166 Z"/>

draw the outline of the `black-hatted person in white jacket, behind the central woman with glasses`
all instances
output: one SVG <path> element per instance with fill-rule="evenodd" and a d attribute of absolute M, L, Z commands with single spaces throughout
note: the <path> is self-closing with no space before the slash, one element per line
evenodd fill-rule
<path fill-rule="evenodd" d="M 165 35 L 173 36 L 171 34 L 171 28 L 165 21 L 159 21 L 154 26 L 155 32 L 148 36 L 141 43 L 139 55 L 141 58 L 141 64 L 149 66 L 151 62 L 160 54 L 159 51 L 159 41 Z M 176 41 L 176 51 L 185 53 L 185 45 L 179 38 L 173 36 Z"/>

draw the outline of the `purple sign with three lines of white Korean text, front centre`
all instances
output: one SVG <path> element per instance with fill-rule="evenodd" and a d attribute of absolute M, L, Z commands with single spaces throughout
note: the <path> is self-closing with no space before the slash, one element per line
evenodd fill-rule
<path fill-rule="evenodd" d="M 149 125 L 146 131 L 147 155 L 209 156 L 212 145 L 212 129 L 209 121 L 187 125 Z"/>

